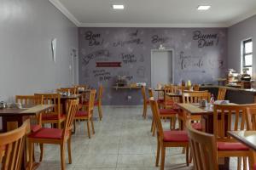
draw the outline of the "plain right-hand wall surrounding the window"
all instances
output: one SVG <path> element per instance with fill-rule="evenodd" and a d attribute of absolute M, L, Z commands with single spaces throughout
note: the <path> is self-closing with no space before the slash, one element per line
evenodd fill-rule
<path fill-rule="evenodd" d="M 253 38 L 253 65 L 256 65 L 256 16 L 240 23 L 230 26 L 228 30 L 228 67 L 241 71 L 241 41 Z M 253 66 L 253 77 L 255 79 L 256 67 Z"/>

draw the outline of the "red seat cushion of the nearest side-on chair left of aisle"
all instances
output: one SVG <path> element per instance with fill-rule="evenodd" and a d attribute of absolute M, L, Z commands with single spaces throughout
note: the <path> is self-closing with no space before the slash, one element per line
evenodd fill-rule
<path fill-rule="evenodd" d="M 28 138 L 33 139 L 61 139 L 62 129 L 58 128 L 40 128 L 37 132 L 28 135 Z"/>

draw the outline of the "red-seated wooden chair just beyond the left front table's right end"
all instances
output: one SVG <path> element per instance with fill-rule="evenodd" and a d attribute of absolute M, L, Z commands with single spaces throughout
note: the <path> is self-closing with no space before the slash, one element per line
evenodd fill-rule
<path fill-rule="evenodd" d="M 43 95 L 43 103 L 55 105 L 51 111 L 47 111 L 42 115 L 42 123 L 57 124 L 57 127 L 61 129 L 61 123 L 65 121 L 66 116 L 61 111 L 61 94 L 35 94 Z"/>

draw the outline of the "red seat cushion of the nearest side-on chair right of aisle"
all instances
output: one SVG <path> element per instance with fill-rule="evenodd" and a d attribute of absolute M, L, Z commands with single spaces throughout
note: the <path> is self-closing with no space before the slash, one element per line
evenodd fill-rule
<path fill-rule="evenodd" d="M 177 131 L 164 131 L 164 141 L 165 142 L 188 142 L 188 133 L 184 130 Z"/>

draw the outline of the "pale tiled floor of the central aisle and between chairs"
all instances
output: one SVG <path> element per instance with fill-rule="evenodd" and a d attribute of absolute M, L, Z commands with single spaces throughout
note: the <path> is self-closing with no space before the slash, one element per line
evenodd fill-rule
<path fill-rule="evenodd" d="M 84 133 L 84 122 L 73 135 L 73 163 L 67 169 L 73 170 L 156 170 L 154 167 L 156 139 L 150 133 L 151 111 L 148 119 L 142 117 L 141 106 L 104 106 L 103 120 L 95 120 L 96 134 L 88 139 Z M 97 110 L 95 111 L 97 117 Z M 163 122 L 169 127 L 169 122 Z M 166 150 L 166 170 L 187 170 L 181 148 Z M 67 154 L 66 154 L 67 157 Z M 67 160 L 67 159 L 66 159 Z M 230 165 L 236 166 L 236 159 Z M 60 169 L 60 148 L 45 145 L 44 160 L 39 169 Z M 236 169 L 236 167 L 230 167 Z"/>

